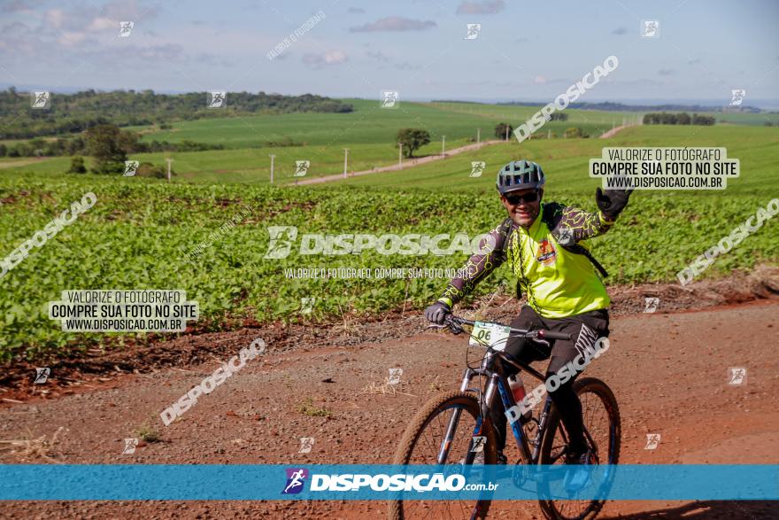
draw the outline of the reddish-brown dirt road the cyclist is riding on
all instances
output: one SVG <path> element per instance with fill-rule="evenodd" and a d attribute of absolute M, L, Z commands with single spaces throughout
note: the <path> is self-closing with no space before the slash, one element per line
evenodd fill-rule
<path fill-rule="evenodd" d="M 500 307 L 490 318 L 512 313 L 509 306 Z M 621 462 L 779 463 L 777 318 L 775 299 L 613 318 L 612 347 L 587 373 L 603 378 L 619 400 Z M 47 462 L 45 454 L 49 462 L 60 463 L 389 463 L 408 418 L 434 393 L 455 387 L 464 366 L 465 338 L 415 333 L 418 321 L 393 325 L 401 335 L 404 328 L 412 331 L 409 338 L 381 343 L 352 338 L 341 345 L 280 353 L 269 341 L 264 356 L 248 361 L 167 427 L 160 411 L 223 359 L 121 376 L 59 399 L 4 407 L 0 439 L 33 440 L 16 446 L 16 453 L 6 450 L 0 462 Z M 210 338 L 228 342 L 227 351 L 237 353 L 256 336 L 256 330 L 244 330 Z M 728 384 L 730 367 L 747 369 L 746 384 Z M 391 368 L 404 370 L 399 392 L 382 393 Z M 123 439 L 137 437 L 143 425 L 159 431 L 162 440 L 142 442 L 135 454 L 121 454 Z M 657 449 L 644 449 L 648 433 L 661 435 Z M 301 437 L 314 438 L 310 454 L 298 453 Z M 515 451 L 508 455 L 516 460 Z M 383 514 L 383 503 L 364 501 L 0 504 L 3 518 L 351 519 Z M 534 502 L 502 502 L 490 517 L 542 516 Z M 776 516 L 775 506 L 765 502 L 632 501 L 609 502 L 599 517 Z"/>

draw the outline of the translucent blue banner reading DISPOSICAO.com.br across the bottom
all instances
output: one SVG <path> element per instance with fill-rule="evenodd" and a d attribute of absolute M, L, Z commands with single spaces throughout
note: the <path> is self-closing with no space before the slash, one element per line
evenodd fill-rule
<path fill-rule="evenodd" d="M 779 500 L 779 465 L 0 465 L 4 501 Z"/>

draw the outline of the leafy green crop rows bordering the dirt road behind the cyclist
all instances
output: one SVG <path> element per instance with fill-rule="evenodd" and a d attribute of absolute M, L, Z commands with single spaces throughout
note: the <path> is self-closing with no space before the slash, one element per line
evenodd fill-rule
<path fill-rule="evenodd" d="M 503 214 L 491 193 L 6 177 L 0 181 L 0 237 L 9 250 L 4 254 L 87 191 L 96 194 L 96 206 L 0 278 L 0 359 L 35 358 L 67 342 L 87 345 L 100 338 L 64 333 L 58 322 L 48 319 L 47 302 L 65 289 L 183 289 L 188 299 L 199 302 L 202 318 L 217 327 L 231 318 L 296 319 L 301 298 L 315 299 L 316 318 L 378 313 L 404 302 L 422 307 L 443 289 L 445 279 L 288 279 L 284 268 L 457 268 L 465 254 L 366 251 L 321 256 L 298 254 L 293 247 L 288 258 L 266 260 L 267 226 L 295 226 L 301 235 L 464 232 L 474 237 Z M 590 193 L 555 197 L 551 191 L 550 198 L 594 208 Z M 673 280 L 678 270 L 770 198 L 767 192 L 737 198 L 640 194 L 611 236 L 593 241 L 593 252 L 613 274 L 610 283 Z M 216 239 L 209 238 L 243 206 L 251 208 L 248 216 Z M 202 256 L 188 260 L 187 252 L 210 242 Z M 777 258 L 779 233 L 775 222 L 769 222 L 718 259 L 706 276 Z M 506 277 L 507 268 L 499 269 L 476 294 L 494 290 L 497 279 Z"/>

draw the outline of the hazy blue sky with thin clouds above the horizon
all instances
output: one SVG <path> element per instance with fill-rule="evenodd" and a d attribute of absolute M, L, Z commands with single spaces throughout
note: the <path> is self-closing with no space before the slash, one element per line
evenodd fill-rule
<path fill-rule="evenodd" d="M 772 0 L 0 0 L 0 86 L 546 102 L 613 55 L 580 101 L 779 106 L 777 22 Z"/>

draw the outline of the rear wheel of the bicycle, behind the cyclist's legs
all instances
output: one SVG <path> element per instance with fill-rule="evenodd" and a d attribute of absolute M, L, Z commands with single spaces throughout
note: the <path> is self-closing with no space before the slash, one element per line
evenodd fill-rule
<path fill-rule="evenodd" d="M 574 383 L 574 391 L 582 401 L 587 442 L 598 464 L 616 464 L 620 458 L 620 410 L 611 389 L 601 380 L 584 377 Z M 564 464 L 568 437 L 555 407 L 541 444 L 539 464 Z M 607 485 L 607 483 L 605 484 Z M 544 492 L 542 491 L 542 495 Z M 598 516 L 603 500 L 540 501 L 544 516 L 553 520 L 591 520 Z"/>

